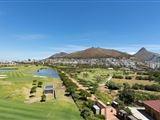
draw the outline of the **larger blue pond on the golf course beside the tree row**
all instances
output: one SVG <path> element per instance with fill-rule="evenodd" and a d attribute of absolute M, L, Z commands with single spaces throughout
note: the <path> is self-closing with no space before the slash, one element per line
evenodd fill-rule
<path fill-rule="evenodd" d="M 58 72 L 51 68 L 37 70 L 36 75 L 52 77 L 52 78 L 59 78 Z"/>

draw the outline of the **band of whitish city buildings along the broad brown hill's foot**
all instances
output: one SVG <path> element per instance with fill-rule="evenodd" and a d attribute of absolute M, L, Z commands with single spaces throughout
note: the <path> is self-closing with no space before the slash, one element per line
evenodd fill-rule
<path fill-rule="evenodd" d="M 116 58 L 86 58 L 86 59 L 76 59 L 76 58 L 55 58 L 55 59 L 46 59 L 45 63 L 49 64 L 70 64 L 70 65 L 102 65 L 106 67 L 128 67 L 128 68 L 137 68 L 136 62 L 130 59 L 116 59 Z"/>

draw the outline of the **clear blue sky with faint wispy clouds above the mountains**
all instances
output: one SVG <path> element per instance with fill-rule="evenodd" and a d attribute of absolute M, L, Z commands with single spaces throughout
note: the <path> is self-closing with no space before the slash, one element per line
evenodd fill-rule
<path fill-rule="evenodd" d="M 0 0 L 0 60 L 88 47 L 160 53 L 160 1 Z"/>

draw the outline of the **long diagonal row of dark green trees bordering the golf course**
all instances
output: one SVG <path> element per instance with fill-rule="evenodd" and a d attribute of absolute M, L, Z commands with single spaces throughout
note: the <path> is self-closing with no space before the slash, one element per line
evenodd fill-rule
<path fill-rule="evenodd" d="M 70 80 L 68 76 L 66 76 L 66 74 L 61 72 L 60 70 L 59 70 L 59 76 L 63 81 L 63 84 L 66 86 L 67 95 L 70 95 L 73 98 L 74 102 L 76 103 L 77 107 L 81 112 L 81 116 L 85 120 L 105 119 L 104 116 L 94 114 L 93 112 L 94 101 L 88 99 L 89 97 L 91 97 L 90 92 L 79 89 L 78 86 L 75 83 L 73 83 L 73 81 Z"/>

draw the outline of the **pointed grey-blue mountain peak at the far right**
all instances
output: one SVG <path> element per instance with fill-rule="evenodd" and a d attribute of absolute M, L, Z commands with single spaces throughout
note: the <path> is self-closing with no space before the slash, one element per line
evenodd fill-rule
<path fill-rule="evenodd" d="M 134 55 L 134 57 L 141 62 L 144 61 L 156 62 L 160 58 L 160 54 L 150 52 L 143 47 Z"/>

